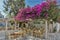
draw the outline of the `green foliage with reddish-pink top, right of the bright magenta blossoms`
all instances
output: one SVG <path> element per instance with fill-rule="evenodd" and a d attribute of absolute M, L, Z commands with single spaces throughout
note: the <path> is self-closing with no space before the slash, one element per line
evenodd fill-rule
<path fill-rule="evenodd" d="M 53 21 L 56 21 L 57 17 L 58 17 L 58 8 L 56 6 L 57 2 L 56 0 L 48 0 L 48 3 L 50 4 L 50 9 L 48 10 L 49 12 L 49 16 L 48 16 L 48 20 L 52 19 Z"/>

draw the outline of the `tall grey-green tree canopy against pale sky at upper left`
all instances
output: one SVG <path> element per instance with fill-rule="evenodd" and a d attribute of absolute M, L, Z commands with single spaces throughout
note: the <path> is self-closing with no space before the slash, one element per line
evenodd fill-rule
<path fill-rule="evenodd" d="M 4 12 L 6 14 L 8 14 L 8 16 L 16 16 L 16 14 L 18 13 L 18 10 L 20 8 L 24 8 L 25 7 L 25 0 L 4 0 Z"/>

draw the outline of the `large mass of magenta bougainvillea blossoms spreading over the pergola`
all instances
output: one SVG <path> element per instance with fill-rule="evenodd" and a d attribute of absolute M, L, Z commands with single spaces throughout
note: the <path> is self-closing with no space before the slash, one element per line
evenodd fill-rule
<path fill-rule="evenodd" d="M 43 2 L 41 4 L 38 4 L 34 7 L 27 7 L 19 9 L 19 12 L 17 16 L 15 17 L 16 20 L 20 21 L 27 21 L 27 19 L 38 19 L 38 18 L 51 18 L 52 13 L 54 10 L 52 10 L 52 7 L 54 8 L 55 1 L 53 2 Z"/>

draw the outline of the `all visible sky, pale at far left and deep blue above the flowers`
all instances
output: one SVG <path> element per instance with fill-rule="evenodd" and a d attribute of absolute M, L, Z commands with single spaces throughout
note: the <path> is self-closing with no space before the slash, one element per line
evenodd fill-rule
<path fill-rule="evenodd" d="M 3 15 L 5 15 L 3 12 L 3 9 L 4 9 L 3 8 L 3 1 L 4 0 L 0 1 L 0 11 Z M 31 7 L 35 6 L 36 4 L 40 4 L 41 2 L 42 2 L 42 0 L 25 0 L 26 6 L 29 5 Z M 57 2 L 60 4 L 60 0 L 57 0 Z"/>

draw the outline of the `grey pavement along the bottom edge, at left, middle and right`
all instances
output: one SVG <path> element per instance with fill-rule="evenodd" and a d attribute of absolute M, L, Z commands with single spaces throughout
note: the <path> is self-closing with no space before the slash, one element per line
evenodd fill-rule
<path fill-rule="evenodd" d="M 5 31 L 0 31 L 0 40 L 5 40 Z M 17 39 L 18 40 L 18 39 Z M 25 36 L 23 38 L 19 38 L 19 40 L 41 40 L 40 38 L 35 38 L 32 36 Z M 43 39 L 45 40 L 45 39 Z M 60 33 L 49 33 L 47 40 L 60 40 Z"/>

